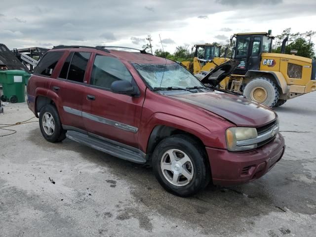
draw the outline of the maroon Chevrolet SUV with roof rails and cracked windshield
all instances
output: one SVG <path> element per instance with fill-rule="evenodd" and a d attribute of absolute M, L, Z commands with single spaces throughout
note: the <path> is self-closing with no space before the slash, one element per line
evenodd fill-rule
<path fill-rule="evenodd" d="M 163 188 L 179 196 L 210 180 L 252 181 L 282 157 L 275 112 L 211 87 L 233 63 L 202 83 L 174 61 L 115 49 L 57 46 L 40 60 L 28 83 L 28 105 L 47 141 L 68 137 L 150 163 Z"/>

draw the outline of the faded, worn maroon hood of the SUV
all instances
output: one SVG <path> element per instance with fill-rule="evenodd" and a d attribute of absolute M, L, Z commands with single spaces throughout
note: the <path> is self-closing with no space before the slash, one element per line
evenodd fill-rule
<path fill-rule="evenodd" d="M 169 95 L 226 118 L 237 126 L 260 127 L 276 118 L 271 109 L 220 91 Z"/>

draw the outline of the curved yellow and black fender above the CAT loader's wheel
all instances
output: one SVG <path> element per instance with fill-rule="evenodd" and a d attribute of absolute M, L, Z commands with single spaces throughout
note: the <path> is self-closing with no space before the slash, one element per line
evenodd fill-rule
<path fill-rule="evenodd" d="M 280 72 L 248 70 L 245 77 L 248 79 L 266 77 L 276 84 L 280 94 L 286 94 L 288 92 L 286 80 Z"/>

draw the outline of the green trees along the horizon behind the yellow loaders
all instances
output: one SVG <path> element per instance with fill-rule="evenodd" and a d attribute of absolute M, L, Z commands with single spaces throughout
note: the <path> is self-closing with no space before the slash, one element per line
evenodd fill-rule
<path fill-rule="evenodd" d="M 280 53 L 281 52 L 281 44 L 284 38 L 289 37 L 287 45 L 285 46 L 285 53 L 290 54 L 292 49 L 298 50 L 298 56 L 306 57 L 306 58 L 316 58 L 315 53 L 315 44 L 312 41 L 313 37 L 316 37 L 316 31 L 307 31 L 305 33 L 291 33 L 291 28 L 286 28 L 283 32 L 279 35 L 275 36 L 273 40 L 272 52 L 273 53 Z M 146 40 L 148 41 L 147 44 L 143 45 L 143 49 L 150 50 L 153 53 L 153 46 L 152 46 L 152 38 L 149 35 Z M 227 57 L 231 57 L 232 55 L 232 48 L 235 45 L 235 40 L 226 40 L 226 43 L 219 43 L 213 42 L 217 46 L 221 46 L 221 56 L 224 56 L 225 49 L 228 47 Z M 162 48 L 156 49 L 154 54 L 158 57 L 168 58 L 175 61 L 192 61 L 194 57 L 193 48 L 190 47 L 189 44 L 177 46 L 174 53 L 170 53 L 168 51 L 162 50 Z"/>

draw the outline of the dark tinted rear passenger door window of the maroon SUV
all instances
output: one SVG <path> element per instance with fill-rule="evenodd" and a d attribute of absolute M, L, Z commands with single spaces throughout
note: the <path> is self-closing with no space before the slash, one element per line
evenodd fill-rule
<path fill-rule="evenodd" d="M 68 72 L 69 80 L 83 82 L 85 68 L 87 67 L 91 53 L 75 52 Z"/>

